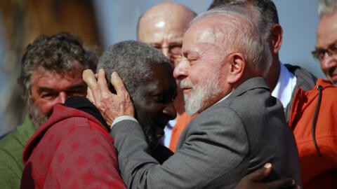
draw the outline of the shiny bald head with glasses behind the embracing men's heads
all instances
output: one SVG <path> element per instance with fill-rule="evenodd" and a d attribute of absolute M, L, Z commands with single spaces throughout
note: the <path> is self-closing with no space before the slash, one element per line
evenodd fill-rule
<path fill-rule="evenodd" d="M 152 6 L 138 21 L 138 41 L 154 46 L 174 64 L 180 59 L 188 24 L 196 15 L 190 8 L 171 1 Z"/>

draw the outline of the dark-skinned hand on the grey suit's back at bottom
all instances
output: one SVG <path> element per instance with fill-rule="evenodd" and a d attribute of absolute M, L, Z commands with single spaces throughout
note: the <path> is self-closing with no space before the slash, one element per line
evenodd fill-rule
<path fill-rule="evenodd" d="M 242 178 L 234 189 L 250 189 L 250 188 L 262 188 L 262 189 L 278 189 L 278 188 L 300 188 L 295 185 L 293 179 L 279 179 L 269 183 L 262 183 L 261 181 L 272 172 L 272 165 L 266 163 L 260 169 L 247 174 Z"/>

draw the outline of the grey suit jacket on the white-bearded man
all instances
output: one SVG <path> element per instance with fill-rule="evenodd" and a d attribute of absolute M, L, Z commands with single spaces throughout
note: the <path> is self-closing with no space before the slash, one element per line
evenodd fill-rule
<path fill-rule="evenodd" d="M 128 188 L 233 188 L 266 162 L 274 170 L 267 181 L 291 177 L 301 183 L 293 133 L 264 78 L 246 80 L 194 118 L 162 165 L 152 158 L 138 123 L 121 121 L 110 134 Z"/>

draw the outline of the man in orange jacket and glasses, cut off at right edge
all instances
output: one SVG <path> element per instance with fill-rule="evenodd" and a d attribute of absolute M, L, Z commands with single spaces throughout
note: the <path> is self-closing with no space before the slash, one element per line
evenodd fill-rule
<path fill-rule="evenodd" d="M 289 126 L 300 155 L 303 188 L 337 188 L 337 2 L 319 1 L 321 20 L 313 57 L 325 73 L 309 91 L 298 89 Z M 334 84 L 334 85 L 333 85 Z"/>

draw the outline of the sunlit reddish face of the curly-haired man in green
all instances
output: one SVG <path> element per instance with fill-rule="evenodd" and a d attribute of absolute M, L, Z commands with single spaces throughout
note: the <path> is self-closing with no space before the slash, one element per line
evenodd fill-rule
<path fill-rule="evenodd" d="M 46 69 L 36 69 L 32 73 L 32 102 L 41 116 L 45 116 L 45 119 L 51 116 L 53 106 L 65 103 L 69 97 L 86 96 L 82 71 L 83 69 L 76 68 L 69 73 L 60 74 Z"/>

